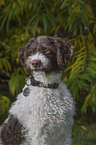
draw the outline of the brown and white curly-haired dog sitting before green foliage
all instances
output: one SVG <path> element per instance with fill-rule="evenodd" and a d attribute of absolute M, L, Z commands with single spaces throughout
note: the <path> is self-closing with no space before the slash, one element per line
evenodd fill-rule
<path fill-rule="evenodd" d="M 75 105 L 61 72 L 73 54 L 58 37 L 31 38 L 19 51 L 27 74 L 23 91 L 1 126 L 1 145 L 71 145 Z"/>

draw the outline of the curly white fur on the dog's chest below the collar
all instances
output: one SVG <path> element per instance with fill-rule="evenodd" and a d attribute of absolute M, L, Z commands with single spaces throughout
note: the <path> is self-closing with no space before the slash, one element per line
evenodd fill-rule
<path fill-rule="evenodd" d="M 44 142 L 48 138 L 48 145 L 51 145 L 50 135 L 53 136 L 55 132 L 57 137 L 53 136 L 51 140 L 55 140 L 59 145 L 60 135 L 63 133 L 64 136 L 66 128 L 73 125 L 74 103 L 62 82 L 59 82 L 57 89 L 30 86 L 29 96 L 19 94 L 9 112 L 16 116 L 27 130 L 26 139 L 29 145 L 45 145 Z M 64 141 L 60 140 L 61 143 Z"/>

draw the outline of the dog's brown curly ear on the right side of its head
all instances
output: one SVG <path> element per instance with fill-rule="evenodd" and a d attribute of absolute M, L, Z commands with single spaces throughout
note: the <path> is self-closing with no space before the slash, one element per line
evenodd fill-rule
<path fill-rule="evenodd" d="M 57 48 L 57 64 L 59 68 L 62 70 L 67 64 L 67 61 L 73 55 L 73 46 L 68 42 L 65 42 L 61 38 L 56 38 L 55 40 L 56 48 Z"/>

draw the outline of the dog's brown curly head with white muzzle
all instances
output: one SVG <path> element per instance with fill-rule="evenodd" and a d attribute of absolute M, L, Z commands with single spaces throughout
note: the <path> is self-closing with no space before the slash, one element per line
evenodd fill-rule
<path fill-rule="evenodd" d="M 19 59 L 26 73 L 31 71 L 58 72 L 67 64 L 73 47 L 58 37 L 39 36 L 31 38 L 21 48 Z"/>

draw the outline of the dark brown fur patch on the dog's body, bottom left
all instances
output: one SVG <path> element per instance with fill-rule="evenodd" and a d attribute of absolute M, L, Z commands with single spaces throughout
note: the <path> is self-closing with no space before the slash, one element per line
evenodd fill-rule
<path fill-rule="evenodd" d="M 22 125 L 14 116 L 10 116 L 7 123 L 1 128 L 1 140 L 4 145 L 20 145 L 24 141 Z"/>

